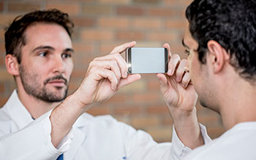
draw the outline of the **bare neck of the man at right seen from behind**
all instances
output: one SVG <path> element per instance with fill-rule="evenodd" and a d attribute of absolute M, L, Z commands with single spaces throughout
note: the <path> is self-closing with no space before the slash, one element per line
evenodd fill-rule
<path fill-rule="evenodd" d="M 230 129 L 241 122 L 256 121 L 256 87 L 240 77 L 233 83 L 228 82 L 219 94 L 222 96 L 219 112 L 225 128 Z"/>

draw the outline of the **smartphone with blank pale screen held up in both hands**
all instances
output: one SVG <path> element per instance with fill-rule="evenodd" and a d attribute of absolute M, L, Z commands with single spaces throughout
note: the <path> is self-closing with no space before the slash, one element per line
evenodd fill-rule
<path fill-rule="evenodd" d="M 129 47 L 126 60 L 128 73 L 166 73 L 168 52 L 165 47 Z"/>

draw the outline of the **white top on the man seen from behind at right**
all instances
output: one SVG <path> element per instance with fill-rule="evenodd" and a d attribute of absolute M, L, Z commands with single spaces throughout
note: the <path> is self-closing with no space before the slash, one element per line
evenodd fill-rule
<path fill-rule="evenodd" d="M 255 160 L 256 121 L 236 124 L 211 143 L 196 148 L 186 160 Z"/>

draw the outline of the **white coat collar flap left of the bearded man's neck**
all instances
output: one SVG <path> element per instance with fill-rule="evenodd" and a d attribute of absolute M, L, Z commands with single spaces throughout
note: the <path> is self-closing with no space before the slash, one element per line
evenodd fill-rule
<path fill-rule="evenodd" d="M 12 95 L 7 100 L 7 103 L 5 103 L 4 107 L 7 107 L 10 118 L 15 121 L 18 129 L 26 127 L 26 125 L 33 121 L 29 111 L 26 110 L 25 106 L 20 102 L 16 89 L 12 92 Z"/>

